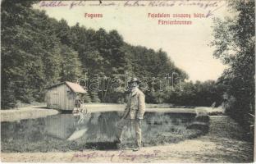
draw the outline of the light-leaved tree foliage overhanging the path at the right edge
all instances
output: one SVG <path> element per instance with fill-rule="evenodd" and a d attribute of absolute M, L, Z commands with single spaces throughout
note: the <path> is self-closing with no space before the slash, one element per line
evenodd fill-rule
<path fill-rule="evenodd" d="M 226 92 L 226 112 L 246 123 L 255 113 L 255 1 L 230 1 L 229 7 L 235 18 L 217 19 L 213 27 L 214 56 L 229 66 L 217 83 Z"/>

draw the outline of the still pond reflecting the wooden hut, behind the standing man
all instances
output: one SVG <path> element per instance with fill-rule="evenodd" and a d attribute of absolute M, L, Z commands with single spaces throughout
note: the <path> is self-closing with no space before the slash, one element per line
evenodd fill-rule
<path fill-rule="evenodd" d="M 58 114 L 45 118 L 1 123 L 2 152 L 66 152 L 88 148 L 116 149 L 121 112 L 94 112 L 80 118 Z M 176 143 L 207 133 L 208 118 L 195 113 L 146 112 L 142 121 L 143 145 Z M 123 132 L 121 148 L 135 145 L 135 131 Z"/>

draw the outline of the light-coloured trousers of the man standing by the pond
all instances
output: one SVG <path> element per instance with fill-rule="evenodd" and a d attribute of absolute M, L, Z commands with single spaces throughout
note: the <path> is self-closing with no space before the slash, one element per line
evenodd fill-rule
<path fill-rule="evenodd" d="M 121 141 L 121 134 L 125 126 L 133 125 L 136 134 L 136 145 L 141 147 L 141 120 L 139 119 L 121 119 L 117 122 L 117 138 Z"/>

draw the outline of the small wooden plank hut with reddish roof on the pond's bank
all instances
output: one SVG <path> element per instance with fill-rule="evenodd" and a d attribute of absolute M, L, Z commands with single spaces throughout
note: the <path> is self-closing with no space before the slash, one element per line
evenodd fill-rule
<path fill-rule="evenodd" d="M 71 110 L 83 103 L 82 96 L 86 93 L 80 84 L 68 81 L 48 87 L 46 93 L 47 107 L 58 110 Z"/>

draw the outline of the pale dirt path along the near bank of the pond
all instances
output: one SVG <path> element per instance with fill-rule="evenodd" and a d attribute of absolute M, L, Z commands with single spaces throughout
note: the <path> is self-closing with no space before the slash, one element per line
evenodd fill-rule
<path fill-rule="evenodd" d="M 254 145 L 228 116 L 211 116 L 209 133 L 178 144 L 131 150 L 2 153 L 2 162 L 253 162 Z"/>

